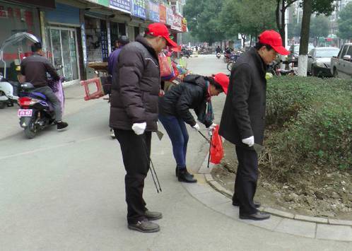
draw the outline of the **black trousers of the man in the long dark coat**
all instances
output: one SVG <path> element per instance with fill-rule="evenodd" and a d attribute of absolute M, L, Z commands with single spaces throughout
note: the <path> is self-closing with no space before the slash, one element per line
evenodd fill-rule
<path fill-rule="evenodd" d="M 255 214 L 253 198 L 257 190 L 258 156 L 255 151 L 236 146 L 238 160 L 233 202 L 240 204 L 240 214 Z"/>

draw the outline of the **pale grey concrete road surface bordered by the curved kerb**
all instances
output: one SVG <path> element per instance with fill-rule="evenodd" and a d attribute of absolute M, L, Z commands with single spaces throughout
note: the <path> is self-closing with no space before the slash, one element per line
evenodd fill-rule
<path fill-rule="evenodd" d="M 189 65 L 201 74 L 206 60 L 223 67 L 212 57 L 192 60 Z M 71 96 L 76 88 L 66 90 Z M 217 119 L 223 99 L 214 99 Z M 47 129 L 28 140 L 18 130 L 0 137 L 0 250 L 351 250 L 351 243 L 239 221 L 228 198 L 201 175 L 198 184 L 177 182 L 166 134 L 162 141 L 153 136 L 151 153 L 163 192 L 156 192 L 150 175 L 144 190 L 148 209 L 163 212 L 157 221 L 161 230 L 131 231 L 122 156 L 117 141 L 110 139 L 106 101 L 68 100 L 67 108 L 73 112 L 66 114 L 70 127 L 64 132 Z M 196 170 L 209 145 L 188 131 L 187 165 Z"/>

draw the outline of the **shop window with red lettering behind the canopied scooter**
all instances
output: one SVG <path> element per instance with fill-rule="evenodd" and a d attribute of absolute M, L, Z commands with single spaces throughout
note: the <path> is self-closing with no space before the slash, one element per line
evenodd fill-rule
<path fill-rule="evenodd" d="M 15 33 L 31 33 L 40 39 L 40 22 L 38 11 L 35 8 L 5 4 L 0 1 L 0 45 L 4 40 Z M 4 50 L 7 78 L 16 81 L 16 64 L 20 64 L 23 57 L 31 53 L 32 42 L 23 40 L 16 45 L 10 45 Z M 0 62 L 0 71 L 4 72 L 4 64 Z"/>

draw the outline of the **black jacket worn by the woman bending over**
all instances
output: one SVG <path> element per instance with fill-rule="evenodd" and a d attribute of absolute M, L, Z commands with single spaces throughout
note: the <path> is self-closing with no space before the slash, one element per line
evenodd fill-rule
<path fill-rule="evenodd" d="M 198 117 L 204 115 L 207 93 L 206 80 L 203 76 L 186 76 L 183 83 L 172 87 L 163 97 L 159 98 L 159 112 L 161 115 L 180 117 L 193 127 L 196 119 L 189 109 L 194 109 Z M 212 121 L 205 121 L 204 125 L 209 127 L 212 123 Z"/>

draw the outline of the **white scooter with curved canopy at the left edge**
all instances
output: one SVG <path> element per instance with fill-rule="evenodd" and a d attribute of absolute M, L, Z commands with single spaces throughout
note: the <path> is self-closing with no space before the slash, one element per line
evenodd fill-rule
<path fill-rule="evenodd" d="M 4 74 L 0 73 L 0 109 L 4 107 L 11 107 L 18 100 L 18 82 L 8 81 L 6 79 L 6 61 L 4 60 L 4 49 L 8 45 L 16 44 L 24 39 L 31 42 L 39 42 L 37 37 L 30 33 L 16 33 L 6 39 L 0 47 L 0 62 L 4 64 Z"/>

